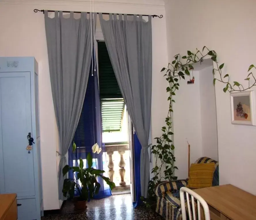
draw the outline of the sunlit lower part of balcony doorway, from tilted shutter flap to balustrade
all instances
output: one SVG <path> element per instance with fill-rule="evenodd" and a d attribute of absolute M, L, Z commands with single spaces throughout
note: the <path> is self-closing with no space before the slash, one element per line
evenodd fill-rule
<path fill-rule="evenodd" d="M 116 109 L 112 110 L 113 108 Z M 114 111 L 116 113 L 113 113 Z M 113 119 L 114 117 L 117 119 Z M 108 104 L 105 100 L 102 101 L 102 127 L 102 142 L 105 144 L 106 151 L 104 155 L 107 164 L 106 170 L 108 170 L 109 178 L 116 184 L 112 192 L 130 192 L 128 114 L 123 99 L 110 99 Z"/>

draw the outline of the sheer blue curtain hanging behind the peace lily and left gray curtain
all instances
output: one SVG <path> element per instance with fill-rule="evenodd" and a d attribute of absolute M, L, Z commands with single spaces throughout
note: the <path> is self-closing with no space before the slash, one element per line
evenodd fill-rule
<path fill-rule="evenodd" d="M 98 86 L 98 75 L 97 67 L 94 71 L 95 60 L 92 59 L 93 64 L 91 63 L 90 74 L 87 84 L 87 89 L 85 93 L 85 99 L 83 102 L 83 108 L 81 111 L 80 119 L 77 125 L 77 129 L 74 135 L 74 142 L 77 145 L 75 155 L 72 153 L 72 144 L 68 150 L 68 164 L 69 166 L 78 166 L 76 158 L 79 160 L 81 157 L 84 160 L 84 165 L 87 165 L 86 157 L 90 153 L 93 157 L 93 168 L 104 170 L 106 167 L 106 158 L 105 158 L 105 146 L 102 144 L 102 120 L 101 120 L 101 110 L 100 110 L 100 93 Z M 93 76 L 91 71 L 93 68 Z M 93 154 L 91 147 L 93 144 L 98 143 L 99 148 L 102 148 L 102 151 L 99 154 Z M 71 177 L 73 172 L 70 170 L 68 175 Z M 98 178 L 100 183 L 100 190 L 94 199 L 102 199 L 105 197 L 111 196 L 111 190 L 109 186 L 102 180 Z M 78 195 L 78 192 L 75 193 L 75 196 Z"/>

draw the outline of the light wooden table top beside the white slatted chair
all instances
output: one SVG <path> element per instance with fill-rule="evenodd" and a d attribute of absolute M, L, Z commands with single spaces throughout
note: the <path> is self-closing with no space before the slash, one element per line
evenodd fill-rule
<path fill-rule="evenodd" d="M 193 191 L 229 219 L 256 219 L 256 196 L 236 186 L 227 184 Z"/>

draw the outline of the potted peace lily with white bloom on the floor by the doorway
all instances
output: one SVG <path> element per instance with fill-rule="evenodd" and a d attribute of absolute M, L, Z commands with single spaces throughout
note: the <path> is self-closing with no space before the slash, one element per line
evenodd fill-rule
<path fill-rule="evenodd" d="M 75 153 L 76 144 L 73 143 L 72 152 Z M 101 152 L 98 144 L 92 146 L 93 153 L 99 154 Z M 77 159 L 77 158 L 76 158 Z M 114 182 L 106 176 L 103 176 L 104 170 L 94 169 L 92 167 L 93 159 L 91 154 L 87 154 L 88 168 L 83 168 L 84 163 L 80 158 L 79 166 L 64 166 L 62 173 L 63 176 L 67 174 L 69 170 L 73 173 L 76 172 L 74 178 L 66 178 L 63 184 L 63 195 L 67 199 L 74 199 L 74 207 L 76 210 L 85 210 L 87 208 L 87 201 L 89 198 L 93 198 L 95 194 L 98 194 L 100 189 L 100 183 L 98 178 L 102 178 L 109 185 L 112 190 L 115 187 Z M 79 184 L 80 183 L 80 184 Z M 75 190 L 78 191 L 79 196 L 74 197 Z"/>

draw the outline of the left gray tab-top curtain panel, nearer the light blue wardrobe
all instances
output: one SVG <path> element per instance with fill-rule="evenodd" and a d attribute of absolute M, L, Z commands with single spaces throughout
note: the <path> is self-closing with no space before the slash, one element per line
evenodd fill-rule
<path fill-rule="evenodd" d="M 81 13 L 79 19 L 74 19 L 73 12 L 64 18 L 62 11 L 55 11 L 55 17 L 51 19 L 45 11 L 45 31 L 60 138 L 59 199 L 64 200 L 62 187 L 66 176 L 62 175 L 62 169 L 67 164 L 65 155 L 79 121 L 91 65 L 91 19 L 87 19 L 86 12 Z"/>

